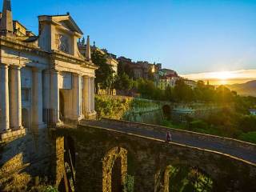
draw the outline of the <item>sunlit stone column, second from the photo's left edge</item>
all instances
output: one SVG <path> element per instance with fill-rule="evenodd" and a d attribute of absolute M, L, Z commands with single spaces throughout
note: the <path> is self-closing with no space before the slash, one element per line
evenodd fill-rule
<path fill-rule="evenodd" d="M 10 66 L 10 128 L 22 129 L 21 67 Z"/>

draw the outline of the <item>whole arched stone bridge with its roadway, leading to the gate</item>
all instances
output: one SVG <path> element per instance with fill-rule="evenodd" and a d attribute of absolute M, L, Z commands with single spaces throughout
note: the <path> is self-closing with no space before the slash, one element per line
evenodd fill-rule
<path fill-rule="evenodd" d="M 165 142 L 167 130 L 172 142 Z M 134 178 L 134 191 L 167 192 L 171 168 L 177 166 L 210 178 L 210 191 L 256 191 L 256 146 L 247 142 L 110 119 L 53 132 L 57 184 L 66 175 L 65 148 L 74 166 L 76 191 L 122 191 L 128 174 Z"/>

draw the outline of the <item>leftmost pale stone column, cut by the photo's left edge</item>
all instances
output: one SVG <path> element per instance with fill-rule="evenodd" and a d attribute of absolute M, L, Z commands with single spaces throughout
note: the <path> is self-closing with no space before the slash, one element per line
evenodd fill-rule
<path fill-rule="evenodd" d="M 8 66 L 0 64 L 0 132 L 10 130 Z"/>

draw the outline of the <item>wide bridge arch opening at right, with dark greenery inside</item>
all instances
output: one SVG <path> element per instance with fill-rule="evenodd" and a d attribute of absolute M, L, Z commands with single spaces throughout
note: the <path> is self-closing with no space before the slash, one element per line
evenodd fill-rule
<path fill-rule="evenodd" d="M 210 192 L 213 190 L 213 180 L 198 167 L 166 166 L 163 174 L 163 186 L 165 192 Z"/>

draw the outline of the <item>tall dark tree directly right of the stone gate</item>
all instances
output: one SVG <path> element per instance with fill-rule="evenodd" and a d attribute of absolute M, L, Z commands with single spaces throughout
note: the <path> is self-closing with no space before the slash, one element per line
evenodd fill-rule
<path fill-rule="evenodd" d="M 98 66 L 98 70 L 95 70 L 95 84 L 97 91 L 98 86 L 102 89 L 111 88 L 114 82 L 114 70 L 112 70 L 112 67 L 106 63 L 106 55 L 98 50 L 94 50 L 91 58 L 94 64 Z"/>

